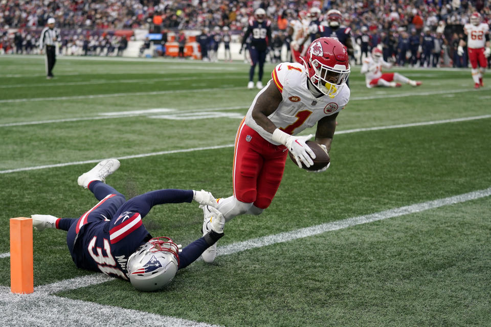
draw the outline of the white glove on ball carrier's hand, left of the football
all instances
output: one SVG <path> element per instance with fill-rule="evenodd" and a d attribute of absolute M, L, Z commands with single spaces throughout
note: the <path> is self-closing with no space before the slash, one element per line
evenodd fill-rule
<path fill-rule="evenodd" d="M 288 151 L 290 151 L 295 157 L 299 168 L 302 168 L 302 162 L 306 167 L 314 165 L 314 161 L 312 159 L 316 158 L 316 154 L 308 145 L 305 144 L 305 142 L 312 138 L 312 136 L 314 135 L 309 134 L 307 136 L 292 136 L 279 130 L 278 128 L 273 132 L 273 140 L 288 148 Z"/>

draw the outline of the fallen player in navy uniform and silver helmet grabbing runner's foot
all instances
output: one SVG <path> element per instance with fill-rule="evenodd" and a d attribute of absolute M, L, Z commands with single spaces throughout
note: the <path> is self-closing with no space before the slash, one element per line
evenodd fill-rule
<path fill-rule="evenodd" d="M 99 162 L 78 177 L 78 184 L 89 189 L 99 203 L 79 218 L 32 215 L 37 230 L 57 228 L 68 231 L 66 243 L 78 268 L 119 277 L 141 291 L 158 290 L 172 281 L 178 269 L 194 262 L 224 235 L 225 218 L 213 207 L 211 193 L 194 190 L 157 190 L 128 201 L 105 178 L 120 166 L 116 159 Z M 196 201 L 214 212 L 209 233 L 181 250 L 171 239 L 152 238 L 142 219 L 158 204 Z"/>

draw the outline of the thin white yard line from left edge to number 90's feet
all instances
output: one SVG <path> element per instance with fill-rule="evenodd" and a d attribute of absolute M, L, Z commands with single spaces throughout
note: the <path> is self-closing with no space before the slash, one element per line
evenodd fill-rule
<path fill-rule="evenodd" d="M 210 92 L 210 91 L 218 91 L 218 90 L 223 91 L 223 90 L 243 90 L 243 89 L 244 89 L 243 86 L 235 86 L 235 87 L 198 88 L 198 89 L 190 89 L 190 90 L 110 93 L 110 94 L 96 94 L 96 95 L 88 95 L 88 96 L 71 96 L 71 97 L 4 99 L 4 100 L 0 100 L 0 103 L 55 101 L 55 100 L 73 100 L 73 99 L 97 99 L 97 98 L 113 98 L 113 97 L 128 97 L 128 96 L 152 96 L 152 95 L 161 95 L 161 94 L 168 94 L 168 93 Z"/>

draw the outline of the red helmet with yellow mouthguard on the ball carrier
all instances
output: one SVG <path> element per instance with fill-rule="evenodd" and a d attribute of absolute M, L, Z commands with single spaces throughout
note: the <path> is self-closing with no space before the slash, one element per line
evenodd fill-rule
<path fill-rule="evenodd" d="M 326 96 L 336 97 L 348 79 L 349 56 L 344 45 L 332 37 L 310 43 L 301 58 L 309 80 Z"/>

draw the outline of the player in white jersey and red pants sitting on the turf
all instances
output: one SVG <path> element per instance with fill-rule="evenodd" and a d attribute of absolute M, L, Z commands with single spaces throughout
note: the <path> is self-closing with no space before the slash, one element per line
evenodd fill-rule
<path fill-rule="evenodd" d="M 391 63 L 382 58 L 382 50 L 380 48 L 373 48 L 372 56 L 367 57 L 363 60 L 361 73 L 365 74 L 365 81 L 367 87 L 375 86 L 389 86 L 389 87 L 400 87 L 402 84 L 410 84 L 412 86 L 421 85 L 420 81 L 413 81 L 399 73 L 382 73 L 383 68 L 392 67 Z M 398 83 L 400 82 L 400 83 Z"/>

